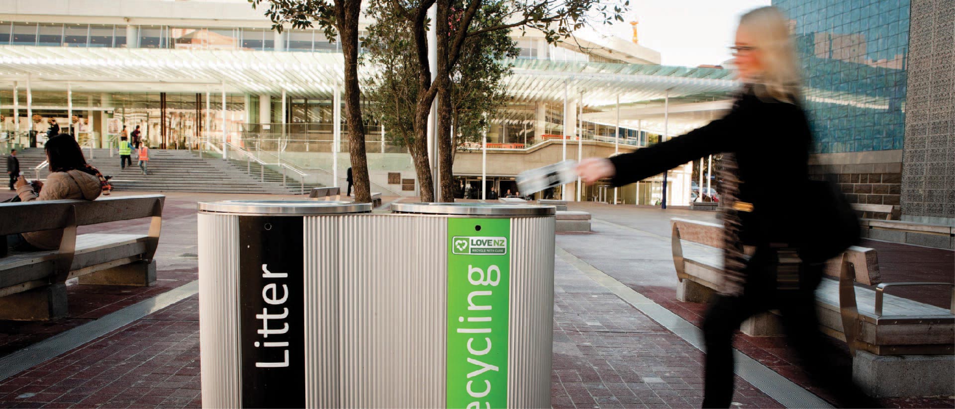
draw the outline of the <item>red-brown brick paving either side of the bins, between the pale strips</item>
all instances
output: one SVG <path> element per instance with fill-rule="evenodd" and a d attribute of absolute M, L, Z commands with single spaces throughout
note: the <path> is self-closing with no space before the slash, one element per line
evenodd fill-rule
<path fill-rule="evenodd" d="M 555 408 L 685 408 L 703 354 L 557 259 Z M 198 296 L 0 382 L 0 407 L 199 407 Z M 781 407 L 738 380 L 739 408 Z"/>

